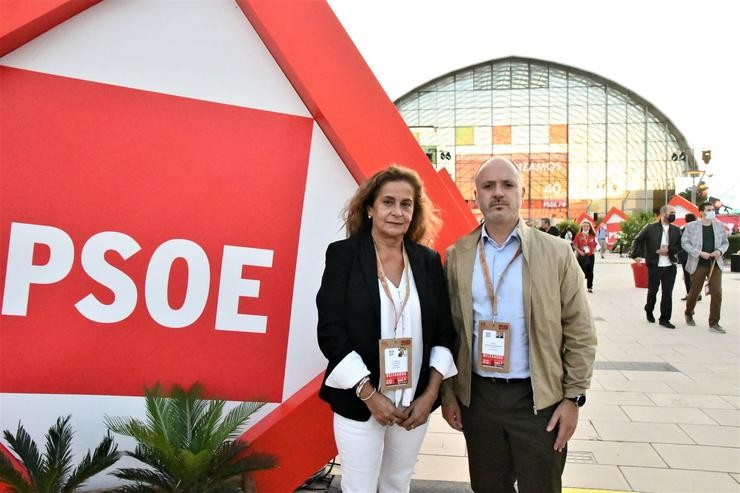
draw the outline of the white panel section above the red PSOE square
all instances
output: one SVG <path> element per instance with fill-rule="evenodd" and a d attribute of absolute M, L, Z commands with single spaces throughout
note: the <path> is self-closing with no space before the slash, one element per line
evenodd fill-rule
<path fill-rule="evenodd" d="M 233 1 L 107 0 L 1 65 L 310 116 Z"/>

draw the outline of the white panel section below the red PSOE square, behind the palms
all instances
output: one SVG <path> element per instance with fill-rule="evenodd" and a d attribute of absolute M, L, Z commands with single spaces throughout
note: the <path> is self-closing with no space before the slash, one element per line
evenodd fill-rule
<path fill-rule="evenodd" d="M 44 434 L 56 423 L 60 416 L 71 415 L 70 424 L 74 429 L 72 454 L 77 464 L 87 453 L 94 449 L 105 436 L 107 429 L 103 422 L 105 416 L 121 416 L 145 419 L 143 397 L 89 396 L 89 395 L 49 395 L 49 394 L 0 394 L 0 427 L 15 434 L 20 421 L 26 431 L 36 441 L 43 452 Z M 224 414 L 237 402 L 227 403 Z M 275 409 L 277 404 L 267 404 L 258 413 L 252 415 L 247 428 L 254 426 L 261 418 Z M 133 451 L 136 443 L 133 439 L 114 435 L 118 450 Z M 132 458 L 122 457 L 113 468 L 93 477 L 85 490 L 111 488 L 120 486 L 120 480 L 107 473 L 121 467 L 142 467 Z"/>

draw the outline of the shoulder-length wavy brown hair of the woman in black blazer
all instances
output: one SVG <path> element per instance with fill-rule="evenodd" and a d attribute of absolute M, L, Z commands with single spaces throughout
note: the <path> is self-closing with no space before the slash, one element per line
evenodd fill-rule
<path fill-rule="evenodd" d="M 354 236 L 372 228 L 373 222 L 367 217 L 367 209 L 375 203 L 378 190 L 391 181 L 405 181 L 414 189 L 414 212 L 406 237 L 415 243 L 431 245 L 437 238 L 442 220 L 424 192 L 424 184 L 416 171 L 395 164 L 375 173 L 360 185 L 352 196 L 344 213 L 347 236 Z"/>

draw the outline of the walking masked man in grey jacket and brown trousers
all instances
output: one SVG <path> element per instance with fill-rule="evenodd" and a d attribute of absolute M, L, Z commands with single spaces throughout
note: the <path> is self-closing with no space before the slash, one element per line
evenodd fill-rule
<path fill-rule="evenodd" d="M 710 202 L 699 205 L 701 221 L 689 223 L 684 228 L 681 245 L 689 258 L 686 270 L 691 274 L 691 290 L 686 300 L 686 324 L 694 326 L 694 307 L 699 298 L 704 279 L 708 279 L 709 329 L 720 334 L 725 329 L 719 325 L 722 309 L 722 255 L 730 246 L 724 225 L 714 218 L 714 206 Z"/>

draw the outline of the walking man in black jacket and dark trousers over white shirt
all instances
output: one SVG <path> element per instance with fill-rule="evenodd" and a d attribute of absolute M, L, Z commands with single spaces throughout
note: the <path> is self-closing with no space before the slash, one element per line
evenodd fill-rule
<path fill-rule="evenodd" d="M 655 323 L 653 309 L 660 294 L 660 325 L 675 329 L 671 323 L 673 311 L 673 284 L 676 282 L 676 261 L 681 251 L 681 230 L 671 224 L 676 220 L 676 209 L 670 205 L 660 208 L 658 220 L 650 223 L 637 233 L 632 242 L 630 257 L 635 262 L 645 259 L 648 268 L 648 295 L 645 303 L 645 317 Z"/>

